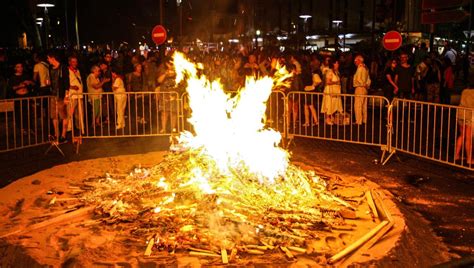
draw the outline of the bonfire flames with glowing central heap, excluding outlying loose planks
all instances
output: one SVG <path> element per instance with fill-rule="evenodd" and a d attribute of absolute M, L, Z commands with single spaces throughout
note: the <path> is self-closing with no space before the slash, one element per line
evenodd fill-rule
<path fill-rule="evenodd" d="M 94 182 L 86 200 L 98 202 L 101 214 L 112 210 L 115 221 L 138 225 L 135 234 L 173 247 L 303 245 L 344 225 L 337 213 L 350 205 L 314 173 L 292 165 L 278 146 L 280 133 L 265 128 L 265 102 L 288 78 L 284 69 L 275 79 L 248 78 L 231 98 L 182 54 L 174 65 L 177 82 L 187 82 L 194 126 L 179 137 L 183 150 L 151 169 Z"/>

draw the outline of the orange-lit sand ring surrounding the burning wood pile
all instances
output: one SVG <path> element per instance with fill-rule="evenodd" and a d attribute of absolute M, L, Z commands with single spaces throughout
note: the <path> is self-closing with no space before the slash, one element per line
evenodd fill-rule
<path fill-rule="evenodd" d="M 140 266 L 144 262 L 173 265 L 189 262 L 198 266 L 219 264 L 219 260 L 216 261 L 215 259 L 190 259 L 185 252 L 173 256 L 157 252 L 153 254 L 153 259 L 146 260 L 143 258 L 145 238 L 142 237 L 143 241 L 141 243 L 139 240 L 135 241 L 136 243 L 130 243 L 130 240 L 135 238 L 119 230 L 124 226 L 115 225 L 112 227 L 101 224 L 100 226 L 93 225 L 94 227 L 89 227 L 88 223 L 95 222 L 94 216 L 89 213 L 90 210 L 84 208 L 70 212 L 75 213 L 74 216 L 69 216 L 64 221 L 36 228 L 37 224 L 41 225 L 48 220 L 57 219 L 60 215 L 67 215 L 64 211 L 73 206 L 71 202 L 72 204 L 77 203 L 75 196 L 72 194 L 74 188 L 71 189 L 71 185 L 80 185 L 82 181 L 103 176 L 105 172 L 123 174 L 128 173 L 138 165 L 145 168 L 151 167 L 161 161 L 162 156 L 163 153 L 154 152 L 71 162 L 21 178 L 1 189 L 0 210 L 3 216 L 0 217 L 0 230 L 2 230 L 0 237 L 4 236 L 4 264 L 26 266 L 26 263 L 23 263 L 24 260 L 32 262 L 28 263 L 28 266 L 35 266 L 35 262 L 37 262 L 41 265 L 55 267 L 69 262 L 75 262 L 83 267 L 120 263 Z M 308 170 L 320 171 L 318 167 L 300 165 Z M 334 192 L 338 195 L 351 198 L 360 197 L 360 200 L 363 200 L 361 205 L 357 207 L 356 215 L 358 218 L 347 220 L 348 224 L 354 224 L 357 227 L 351 231 L 333 230 L 330 234 L 321 238 L 324 241 L 320 241 L 321 239 L 312 241 L 311 246 L 318 251 L 316 255 L 299 256 L 295 261 L 286 260 L 284 255 L 278 252 L 269 253 L 265 258 L 239 255 L 241 259 L 236 262 L 237 264 L 246 266 L 254 264 L 271 265 L 275 261 L 275 263 L 283 266 L 319 266 L 319 263 L 325 262 L 324 259 L 321 259 L 325 258 L 323 257 L 325 255 L 320 254 L 320 252 L 339 252 L 380 223 L 380 220 L 374 219 L 372 214 L 369 213 L 370 208 L 363 197 L 369 189 L 381 190 L 376 184 L 364 178 L 336 177 L 336 174 L 330 173 L 324 175 L 337 179 L 338 186 Z M 394 227 L 374 247 L 356 252 L 350 259 L 339 262 L 339 265 L 380 260 L 387 255 L 397 254 L 396 252 L 399 250 L 396 248 L 403 246 L 400 243 L 402 236 L 406 237 L 406 225 L 403 216 L 395 204 L 390 201 L 390 197 L 385 196 L 383 191 L 380 191 L 380 193 L 384 195 L 384 205 L 390 211 Z M 53 198 L 57 200 L 55 204 L 50 203 Z M 78 213 L 80 211 L 87 211 L 87 213 Z M 395 249 L 393 249 L 394 247 Z M 18 252 L 11 254 L 9 250 L 12 248 L 16 248 Z M 440 250 L 440 252 L 442 251 Z M 25 258 L 23 254 L 28 258 Z M 438 259 L 446 260 L 446 256 L 443 257 Z M 166 261 L 163 258 L 167 258 Z M 318 259 L 318 261 L 315 259 Z"/>

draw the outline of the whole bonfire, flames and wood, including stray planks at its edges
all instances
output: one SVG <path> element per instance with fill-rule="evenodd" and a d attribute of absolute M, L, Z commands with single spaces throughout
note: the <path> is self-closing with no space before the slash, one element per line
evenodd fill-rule
<path fill-rule="evenodd" d="M 220 83 L 198 76 L 183 55 L 175 55 L 174 65 L 176 82 L 187 82 L 193 133 L 181 133 L 156 166 L 72 183 L 68 194 L 75 198 L 49 202 L 48 208 L 70 205 L 64 214 L 46 213 L 55 217 L 3 237 L 94 211 L 81 228 L 119 230 L 146 241 L 148 257 L 189 252 L 229 263 L 246 255 L 278 253 L 294 260 L 313 254 L 330 257 L 319 262 L 326 264 L 371 238 L 375 243 L 391 228 L 370 191 L 341 195 L 337 180 L 291 164 L 278 146 L 280 133 L 265 127 L 265 102 L 288 78 L 283 69 L 274 78 L 248 79 L 231 98 Z M 361 217 L 362 230 L 356 220 Z M 355 230 L 370 232 L 354 242 L 348 237 Z"/>

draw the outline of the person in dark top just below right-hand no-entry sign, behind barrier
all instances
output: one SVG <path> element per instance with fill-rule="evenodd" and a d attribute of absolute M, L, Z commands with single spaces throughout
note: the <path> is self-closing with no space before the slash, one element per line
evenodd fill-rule
<path fill-rule="evenodd" d="M 408 63 L 408 54 L 405 52 L 400 55 L 400 65 L 396 73 L 395 84 L 398 85 L 398 91 L 395 94 L 399 98 L 409 99 L 410 94 L 415 94 L 415 70 Z"/>

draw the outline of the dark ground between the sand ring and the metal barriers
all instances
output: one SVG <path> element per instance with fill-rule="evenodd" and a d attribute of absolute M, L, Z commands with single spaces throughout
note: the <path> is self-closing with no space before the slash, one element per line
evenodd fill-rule
<path fill-rule="evenodd" d="M 58 164 L 121 154 L 145 153 L 166 149 L 165 138 L 135 140 L 87 140 L 81 153 L 75 155 L 71 145 L 64 145 L 66 158 L 47 147 L 0 155 L 1 184 Z M 432 259 L 415 259 L 414 266 L 427 266 L 468 257 L 474 253 L 474 175 L 429 161 L 399 155 L 385 166 L 375 163 L 379 148 L 297 139 L 290 148 L 293 159 L 321 167 L 328 172 L 361 176 L 390 191 L 408 219 L 410 236 L 405 243 L 423 248 L 426 255 L 443 255 Z M 104 167 L 108 164 L 104 164 Z M 434 236 L 434 233 L 437 235 Z M 436 245 L 433 248 L 433 245 Z M 446 247 L 444 246 L 446 245 Z M 431 249 L 430 249 L 431 247 Z M 408 249 L 408 248 L 407 248 Z M 402 266 L 410 252 L 387 256 L 386 267 Z M 406 264 L 406 263 L 404 263 Z"/>

